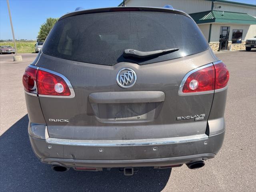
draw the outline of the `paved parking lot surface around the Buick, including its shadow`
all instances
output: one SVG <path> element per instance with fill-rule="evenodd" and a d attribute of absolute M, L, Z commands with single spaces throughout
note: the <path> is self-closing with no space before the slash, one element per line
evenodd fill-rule
<path fill-rule="evenodd" d="M 186 165 L 157 170 L 139 168 L 133 176 L 118 169 L 54 172 L 36 158 L 27 133 L 22 75 L 37 54 L 0 55 L 0 191 L 255 191 L 256 51 L 216 55 L 230 71 L 226 135 L 214 159 L 198 170 Z"/>

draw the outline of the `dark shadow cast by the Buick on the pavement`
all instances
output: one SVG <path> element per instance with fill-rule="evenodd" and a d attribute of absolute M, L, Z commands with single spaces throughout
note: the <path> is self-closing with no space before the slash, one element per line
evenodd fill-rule
<path fill-rule="evenodd" d="M 34 155 L 28 138 L 28 115 L 0 136 L 1 191 L 161 191 L 170 169 L 139 168 L 124 176 L 117 168 L 99 172 L 54 172 Z"/>

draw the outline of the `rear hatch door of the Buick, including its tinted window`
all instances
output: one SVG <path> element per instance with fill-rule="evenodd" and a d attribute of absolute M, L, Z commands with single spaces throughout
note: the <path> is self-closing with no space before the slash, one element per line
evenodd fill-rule
<path fill-rule="evenodd" d="M 125 49 L 169 48 L 179 50 L 147 58 L 123 56 Z M 56 23 L 42 52 L 36 65 L 66 76 L 75 92 L 74 98 L 40 97 L 50 137 L 131 140 L 206 132 L 213 93 L 178 94 L 189 71 L 214 61 L 187 16 L 146 11 L 70 16 Z M 124 88 L 118 81 L 120 75 L 129 81 L 130 70 L 128 85 L 135 74 L 136 82 Z M 177 120 L 201 114 L 200 121 Z"/>

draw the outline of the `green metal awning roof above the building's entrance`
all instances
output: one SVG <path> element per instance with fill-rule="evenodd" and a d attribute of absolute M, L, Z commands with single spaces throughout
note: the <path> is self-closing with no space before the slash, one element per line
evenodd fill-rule
<path fill-rule="evenodd" d="M 236 13 L 227 11 L 204 11 L 192 13 L 190 16 L 197 24 L 202 23 L 234 23 L 234 24 L 256 24 L 256 18 L 246 13 Z"/>

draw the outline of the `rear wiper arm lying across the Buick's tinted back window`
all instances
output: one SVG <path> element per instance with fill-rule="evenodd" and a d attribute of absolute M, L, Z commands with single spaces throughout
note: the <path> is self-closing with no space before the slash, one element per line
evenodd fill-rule
<path fill-rule="evenodd" d="M 175 52 L 178 50 L 179 50 L 179 48 L 156 50 L 156 51 L 138 51 L 135 49 L 126 49 L 126 50 L 124 50 L 123 56 L 124 57 L 145 58 L 145 57 L 151 57 L 151 56 L 160 55 L 160 54 L 167 54 L 167 53 Z"/>

